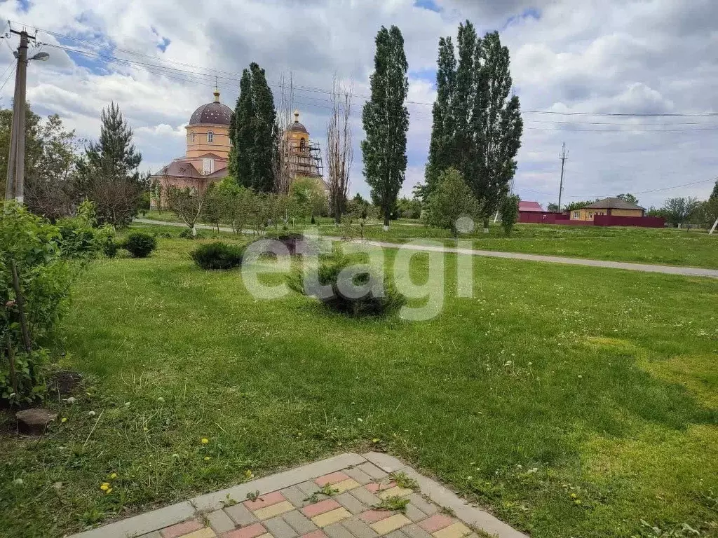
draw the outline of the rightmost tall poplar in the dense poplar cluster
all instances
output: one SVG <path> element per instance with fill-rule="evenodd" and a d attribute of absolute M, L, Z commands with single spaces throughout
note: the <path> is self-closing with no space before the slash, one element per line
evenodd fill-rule
<path fill-rule="evenodd" d="M 484 228 L 503 202 L 516 174 L 516 154 L 521 147 L 523 120 L 518 96 L 509 97 L 511 75 L 508 47 L 498 32 L 485 35 L 476 44 L 476 98 L 472 112 L 476 157 L 470 187 L 483 202 Z"/>

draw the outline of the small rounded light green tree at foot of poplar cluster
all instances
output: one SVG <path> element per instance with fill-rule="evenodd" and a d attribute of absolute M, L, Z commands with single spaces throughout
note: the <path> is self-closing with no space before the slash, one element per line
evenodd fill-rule
<path fill-rule="evenodd" d="M 425 209 L 426 223 L 452 231 L 456 237 L 459 217 L 479 217 L 481 206 L 460 171 L 449 168 L 439 175 L 436 189 L 429 194 Z"/>

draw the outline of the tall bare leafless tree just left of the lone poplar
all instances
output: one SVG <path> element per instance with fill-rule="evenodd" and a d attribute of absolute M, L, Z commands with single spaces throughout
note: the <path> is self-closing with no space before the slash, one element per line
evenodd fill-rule
<path fill-rule="evenodd" d="M 332 85 L 332 115 L 327 127 L 327 183 L 329 184 L 330 212 L 338 224 L 345 212 L 349 193 L 349 171 L 354 159 L 352 129 L 352 85 L 342 86 L 335 77 Z"/>

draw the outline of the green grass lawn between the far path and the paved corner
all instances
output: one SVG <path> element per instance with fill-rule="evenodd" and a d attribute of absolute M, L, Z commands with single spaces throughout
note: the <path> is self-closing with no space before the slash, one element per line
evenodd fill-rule
<path fill-rule="evenodd" d="M 195 244 L 76 286 L 58 345 L 86 387 L 48 402 L 67 418 L 49 435 L 1 440 L 1 536 L 370 447 L 534 538 L 718 534 L 718 281 L 475 258 L 474 298 L 434 320 L 357 321 L 256 301 L 239 271 L 195 268 Z"/>

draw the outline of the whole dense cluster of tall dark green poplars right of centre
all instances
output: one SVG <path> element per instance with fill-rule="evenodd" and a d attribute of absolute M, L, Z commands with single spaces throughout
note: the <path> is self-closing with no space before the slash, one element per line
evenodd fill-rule
<path fill-rule="evenodd" d="M 485 227 L 508 194 L 523 133 L 518 97 L 510 96 L 509 63 L 498 32 L 478 39 L 469 21 L 459 26 L 458 61 L 451 39 L 439 39 L 426 184 L 417 193 L 426 200 L 441 172 L 457 169 L 482 203 Z"/>

